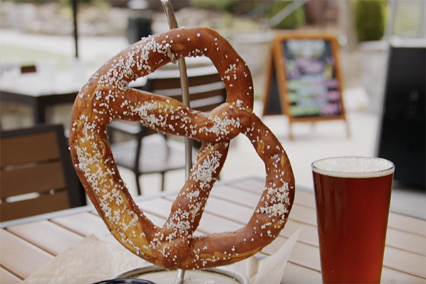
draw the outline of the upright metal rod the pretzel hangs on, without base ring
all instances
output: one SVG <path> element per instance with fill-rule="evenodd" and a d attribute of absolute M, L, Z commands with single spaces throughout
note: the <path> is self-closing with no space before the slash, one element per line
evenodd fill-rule
<path fill-rule="evenodd" d="M 170 28 L 178 28 L 178 21 L 176 21 L 175 13 L 173 11 L 170 0 L 161 0 L 165 15 L 168 18 L 168 24 Z M 182 89 L 182 102 L 185 106 L 190 107 L 190 88 L 188 83 L 188 77 L 186 72 L 185 58 L 178 59 L 178 66 L 180 72 L 180 88 Z M 185 137 L 185 174 L 187 177 L 190 175 L 192 168 L 192 141 L 190 138 Z M 176 275 L 175 283 L 182 284 L 185 278 L 185 271 L 178 269 L 178 275 Z"/>

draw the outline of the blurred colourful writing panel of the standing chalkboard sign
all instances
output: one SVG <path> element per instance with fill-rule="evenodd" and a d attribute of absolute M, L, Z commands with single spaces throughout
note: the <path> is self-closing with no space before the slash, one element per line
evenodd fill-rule
<path fill-rule="evenodd" d="M 290 114 L 341 115 L 342 94 L 329 40 L 289 39 L 282 45 Z"/>

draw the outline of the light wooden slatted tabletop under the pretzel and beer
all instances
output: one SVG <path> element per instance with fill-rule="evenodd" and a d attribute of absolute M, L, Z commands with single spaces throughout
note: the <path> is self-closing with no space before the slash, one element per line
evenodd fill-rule
<path fill-rule="evenodd" d="M 263 181 L 247 178 L 220 182 L 212 190 L 199 232 L 234 231 L 251 217 Z M 161 225 L 170 212 L 176 192 L 139 197 L 136 202 L 155 224 Z M 285 229 L 273 244 L 263 249 L 270 255 L 302 227 L 283 283 L 321 283 L 315 197 L 297 189 L 295 204 Z M 18 222 L 0 223 L 0 282 L 19 283 L 85 236 L 118 242 L 111 236 L 92 207 L 80 207 Z M 426 220 L 390 214 L 382 283 L 426 283 Z"/>

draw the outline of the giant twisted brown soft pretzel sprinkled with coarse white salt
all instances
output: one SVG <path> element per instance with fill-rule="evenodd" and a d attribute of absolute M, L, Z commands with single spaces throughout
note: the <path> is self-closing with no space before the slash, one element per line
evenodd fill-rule
<path fill-rule="evenodd" d="M 170 58 L 187 56 L 210 58 L 226 86 L 226 102 L 209 114 L 128 86 Z M 107 138 L 107 124 L 116 119 L 141 121 L 161 133 L 202 142 L 162 227 L 141 212 L 119 175 Z M 261 199 L 241 229 L 193 236 L 229 141 L 239 133 L 250 139 L 265 163 Z M 293 204 L 293 170 L 278 139 L 253 114 L 249 68 L 222 36 L 208 28 L 180 28 L 143 38 L 103 65 L 75 99 L 70 151 L 89 198 L 115 238 L 146 261 L 168 269 L 209 268 L 253 256 L 278 236 Z"/>

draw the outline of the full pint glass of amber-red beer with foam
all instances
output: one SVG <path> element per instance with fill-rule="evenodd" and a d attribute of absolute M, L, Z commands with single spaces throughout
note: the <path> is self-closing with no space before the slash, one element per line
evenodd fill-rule
<path fill-rule="evenodd" d="M 312 163 L 324 284 L 380 283 L 394 168 L 381 158 Z"/>

